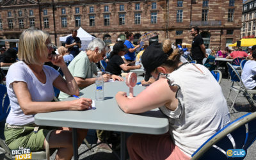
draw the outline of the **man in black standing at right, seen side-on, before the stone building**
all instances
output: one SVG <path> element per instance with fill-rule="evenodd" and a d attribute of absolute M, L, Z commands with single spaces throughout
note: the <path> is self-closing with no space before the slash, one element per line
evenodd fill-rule
<path fill-rule="evenodd" d="M 192 58 L 193 60 L 196 60 L 196 63 L 203 64 L 203 59 L 207 58 L 207 55 L 205 54 L 205 46 L 204 46 L 204 40 L 201 35 L 199 35 L 199 28 L 193 27 L 191 28 L 191 35 L 194 37 L 192 42 Z"/>

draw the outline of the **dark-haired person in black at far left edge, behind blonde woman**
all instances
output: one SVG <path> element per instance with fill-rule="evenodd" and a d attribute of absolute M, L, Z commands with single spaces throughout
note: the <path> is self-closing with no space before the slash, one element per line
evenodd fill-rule
<path fill-rule="evenodd" d="M 0 66 L 8 67 L 17 60 L 17 51 L 15 49 L 8 49 L 4 54 L 0 55 Z"/>

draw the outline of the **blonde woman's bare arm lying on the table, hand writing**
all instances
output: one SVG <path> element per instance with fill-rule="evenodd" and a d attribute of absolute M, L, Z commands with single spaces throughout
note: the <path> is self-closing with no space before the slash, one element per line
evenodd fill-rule
<path fill-rule="evenodd" d="M 84 110 L 92 108 L 92 99 L 85 98 L 62 102 L 33 102 L 25 82 L 15 81 L 12 85 L 20 108 L 25 115 L 35 115 L 36 113 L 60 110 Z"/>

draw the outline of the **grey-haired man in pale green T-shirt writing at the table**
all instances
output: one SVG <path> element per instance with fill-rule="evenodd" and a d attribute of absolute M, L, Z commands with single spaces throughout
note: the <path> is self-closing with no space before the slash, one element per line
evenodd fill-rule
<path fill-rule="evenodd" d="M 104 56 L 106 56 L 106 49 L 108 47 L 105 42 L 95 38 L 88 45 L 87 51 L 81 51 L 68 65 L 68 70 L 74 77 L 80 90 L 95 83 L 96 77 L 93 77 L 93 74 L 97 76 L 97 72 L 100 71 L 95 63 L 103 60 Z M 103 74 L 102 76 L 105 82 L 110 78 L 114 81 L 123 81 L 122 77 L 116 75 Z M 70 97 L 70 95 L 60 92 L 59 99 L 67 97 Z"/>

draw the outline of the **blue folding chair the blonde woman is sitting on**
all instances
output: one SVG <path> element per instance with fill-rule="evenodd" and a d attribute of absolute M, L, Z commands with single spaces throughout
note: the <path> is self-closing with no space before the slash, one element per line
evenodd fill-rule
<path fill-rule="evenodd" d="M 10 100 L 7 95 L 6 86 L 3 84 L 0 84 L 0 107 L 0 128 L 3 129 L 0 131 L 0 135 L 3 136 L 5 119 L 10 112 Z M 13 159 L 12 150 L 6 145 L 4 137 L 0 137 L 0 152 L 4 154 L 5 159 Z M 31 152 L 31 157 L 33 159 L 46 159 L 47 153 L 45 151 Z"/>

